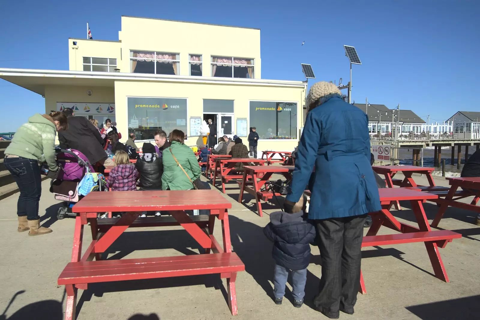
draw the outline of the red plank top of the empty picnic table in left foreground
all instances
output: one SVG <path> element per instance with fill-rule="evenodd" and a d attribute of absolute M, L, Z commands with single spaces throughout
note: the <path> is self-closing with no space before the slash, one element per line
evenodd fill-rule
<path fill-rule="evenodd" d="M 216 190 L 90 192 L 72 212 L 230 209 Z"/>

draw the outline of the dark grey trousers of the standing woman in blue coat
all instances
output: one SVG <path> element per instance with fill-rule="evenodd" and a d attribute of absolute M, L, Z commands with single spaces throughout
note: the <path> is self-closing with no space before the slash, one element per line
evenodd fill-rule
<path fill-rule="evenodd" d="M 335 318 L 339 310 L 353 313 L 360 286 L 361 242 L 367 215 L 316 220 L 320 237 L 322 278 L 314 304 Z"/>

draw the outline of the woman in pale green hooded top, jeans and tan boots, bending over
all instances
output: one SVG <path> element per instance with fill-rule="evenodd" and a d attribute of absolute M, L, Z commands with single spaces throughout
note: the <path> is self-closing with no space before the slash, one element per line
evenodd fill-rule
<path fill-rule="evenodd" d="M 5 167 L 12 173 L 20 189 L 17 215 L 18 232 L 30 230 L 28 235 L 48 234 L 51 229 L 40 227 L 38 202 L 42 193 L 39 165 L 47 162 L 50 171 L 57 171 L 55 162 L 56 131 L 66 129 L 67 117 L 63 112 L 50 115 L 35 114 L 18 128 L 5 150 Z"/>

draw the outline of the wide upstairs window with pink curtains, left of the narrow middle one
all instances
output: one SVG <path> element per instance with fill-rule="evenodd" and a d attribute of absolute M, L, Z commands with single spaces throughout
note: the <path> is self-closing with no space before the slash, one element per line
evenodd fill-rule
<path fill-rule="evenodd" d="M 180 74 L 180 54 L 130 50 L 130 72 L 135 74 Z"/>

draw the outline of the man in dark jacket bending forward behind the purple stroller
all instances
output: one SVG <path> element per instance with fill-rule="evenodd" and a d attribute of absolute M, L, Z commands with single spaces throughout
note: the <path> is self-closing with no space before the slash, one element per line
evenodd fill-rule
<path fill-rule="evenodd" d="M 68 129 L 59 131 L 60 148 L 75 149 L 82 152 L 92 165 L 100 162 L 104 166 L 114 165 L 103 149 L 104 140 L 85 117 L 75 117 L 70 108 L 63 110 L 67 116 Z"/>

